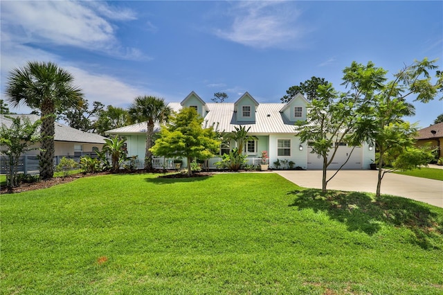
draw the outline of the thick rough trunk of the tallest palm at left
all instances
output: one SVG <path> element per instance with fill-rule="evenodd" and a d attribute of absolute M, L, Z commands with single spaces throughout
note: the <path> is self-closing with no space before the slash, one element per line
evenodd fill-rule
<path fill-rule="evenodd" d="M 55 117 L 53 110 L 42 107 L 42 150 L 40 151 L 39 157 L 41 179 L 51 179 L 54 176 L 54 123 Z"/>

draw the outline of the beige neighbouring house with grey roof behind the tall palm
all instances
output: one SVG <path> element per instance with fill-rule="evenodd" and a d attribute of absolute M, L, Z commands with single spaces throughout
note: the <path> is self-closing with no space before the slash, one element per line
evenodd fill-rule
<path fill-rule="evenodd" d="M 27 117 L 31 122 L 35 122 L 40 118 L 37 115 L 0 115 L 0 124 L 10 127 L 12 121 L 6 116 L 10 117 Z M 54 147 L 55 156 L 82 156 L 83 154 L 94 154 L 93 150 L 102 150 L 105 144 L 105 137 L 89 132 L 82 132 L 81 130 L 63 125 L 55 122 Z M 39 154 L 39 150 L 31 150 L 28 155 Z"/>

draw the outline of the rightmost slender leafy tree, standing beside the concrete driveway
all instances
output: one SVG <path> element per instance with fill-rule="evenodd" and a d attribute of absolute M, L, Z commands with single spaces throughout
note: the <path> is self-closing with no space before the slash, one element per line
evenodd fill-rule
<path fill-rule="evenodd" d="M 377 197 L 380 196 L 383 176 L 388 171 L 381 169 L 386 159 L 396 159 L 392 163 L 394 168 L 399 169 L 411 169 L 427 163 L 424 160 L 428 157 L 428 151 L 413 148 L 413 135 L 417 128 L 403 118 L 413 114 L 414 110 L 413 105 L 406 102 L 406 97 L 415 95 L 415 101 L 428 102 L 439 95 L 443 83 L 442 74 L 437 71 L 435 82 L 430 74 L 437 69 L 435 62 L 436 60 L 429 61 L 427 58 L 415 60 L 413 64 L 396 73 L 394 80 L 388 82 L 386 74 L 381 75 L 381 90 L 373 93 L 368 108 L 357 120 L 354 134 L 374 143 L 379 151 Z M 367 88 L 361 83 L 361 78 L 356 76 L 356 73 L 365 72 L 365 66 L 353 62 L 344 72 L 347 84 L 351 83 L 355 89 Z"/>

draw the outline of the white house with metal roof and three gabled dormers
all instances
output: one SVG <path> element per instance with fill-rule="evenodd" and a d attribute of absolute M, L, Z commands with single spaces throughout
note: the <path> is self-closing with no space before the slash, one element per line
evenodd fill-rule
<path fill-rule="evenodd" d="M 248 134 L 255 136 L 255 140 L 248 141 L 244 153 L 248 158 L 257 159 L 262 151 L 269 154 L 269 165 L 277 159 L 293 161 L 295 166 L 305 169 L 321 169 L 322 159 L 311 154 L 307 143 L 301 143 L 295 136 L 294 124 L 298 120 L 306 120 L 308 101 L 300 93 L 286 104 L 259 103 L 248 92 L 244 93 L 236 102 L 206 103 L 197 93 L 192 91 L 182 102 L 171 102 L 169 106 L 174 111 L 181 107 L 194 107 L 204 117 L 205 127 L 213 126 L 219 132 L 232 132 L 239 125 L 249 129 Z M 156 125 L 155 132 L 160 126 Z M 118 134 L 127 138 L 128 156 L 137 155 L 138 159 L 145 157 L 146 123 L 138 123 L 126 127 L 112 129 L 106 134 Z M 339 145 L 334 163 L 329 169 L 336 169 L 344 163 L 352 147 L 345 143 Z M 235 147 L 234 142 L 222 143 L 219 155 L 228 153 Z M 369 169 L 374 159 L 374 150 L 368 145 L 356 147 L 352 157 L 343 167 L 344 169 Z M 213 162 L 212 162 L 213 163 Z M 256 163 L 256 162 L 253 162 Z"/>

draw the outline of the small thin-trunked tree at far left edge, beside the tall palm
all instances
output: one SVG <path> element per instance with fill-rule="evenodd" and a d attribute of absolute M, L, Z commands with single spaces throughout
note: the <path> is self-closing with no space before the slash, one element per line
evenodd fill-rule
<path fill-rule="evenodd" d="M 0 153 L 5 154 L 9 160 L 6 185 L 8 186 L 8 190 L 12 191 L 13 187 L 19 186 L 17 175 L 19 157 L 24 152 L 38 149 L 38 147 L 33 147 L 33 145 L 40 140 L 37 129 L 42 122 L 36 120 L 35 123 L 31 123 L 29 118 L 22 118 L 20 116 L 15 118 L 6 116 L 6 119 L 11 120 L 12 124 L 10 127 L 1 124 L 0 145 L 8 148 L 6 150 L 0 150 Z"/>

